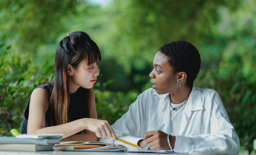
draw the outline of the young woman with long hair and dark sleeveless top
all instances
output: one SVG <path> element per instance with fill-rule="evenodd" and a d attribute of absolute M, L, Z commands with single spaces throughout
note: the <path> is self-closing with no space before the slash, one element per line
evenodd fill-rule
<path fill-rule="evenodd" d="M 85 32 L 72 32 L 60 41 L 55 79 L 32 92 L 24 111 L 22 134 L 63 134 L 62 140 L 117 140 L 105 120 L 98 120 L 93 83 L 102 57 Z M 83 131 L 83 134 L 82 134 Z"/>

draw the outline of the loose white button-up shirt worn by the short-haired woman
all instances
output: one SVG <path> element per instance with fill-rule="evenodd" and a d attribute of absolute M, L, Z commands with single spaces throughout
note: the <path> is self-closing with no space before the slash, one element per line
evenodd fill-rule
<path fill-rule="evenodd" d="M 165 124 L 162 131 L 169 134 L 172 133 L 170 122 L 176 121 L 171 118 L 170 109 L 169 94 L 159 95 L 150 88 L 138 96 L 129 111 L 112 128 L 116 136 L 133 144 L 143 139 L 146 132 L 159 130 L 162 124 Z M 240 152 L 236 131 L 221 98 L 212 89 L 200 89 L 193 85 L 183 111 L 179 134 L 175 136 L 175 152 L 227 155 L 238 155 Z M 125 145 L 111 138 L 100 141 Z"/>

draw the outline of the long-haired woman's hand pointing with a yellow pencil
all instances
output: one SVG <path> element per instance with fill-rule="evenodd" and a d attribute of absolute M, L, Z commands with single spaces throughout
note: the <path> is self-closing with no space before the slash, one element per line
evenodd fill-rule
<path fill-rule="evenodd" d="M 114 130 L 106 120 L 84 118 L 84 124 L 86 130 L 95 132 L 99 138 L 108 139 L 112 135 L 117 140 Z"/>

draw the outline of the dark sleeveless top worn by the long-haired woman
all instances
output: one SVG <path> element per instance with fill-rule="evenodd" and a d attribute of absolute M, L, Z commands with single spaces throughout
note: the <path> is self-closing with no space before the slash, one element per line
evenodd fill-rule
<path fill-rule="evenodd" d="M 49 106 L 45 113 L 44 127 L 51 126 L 50 117 L 52 116 L 52 111 L 50 108 L 50 98 L 51 98 L 51 93 L 53 91 L 53 86 L 54 86 L 54 81 L 37 87 L 37 88 L 42 88 L 43 90 L 46 91 L 48 101 L 49 101 Z M 28 100 L 27 106 L 24 111 L 21 134 L 27 134 L 27 120 L 28 120 L 30 98 Z M 88 105 L 86 103 L 86 98 L 85 98 L 85 88 L 79 87 L 74 94 L 70 95 L 70 103 L 68 108 L 68 122 L 72 122 L 74 120 L 81 119 L 81 118 L 89 118 L 87 107 Z M 35 119 L 35 118 L 30 118 L 30 119 Z M 78 132 L 77 134 L 81 134 L 81 133 L 82 131 Z"/>

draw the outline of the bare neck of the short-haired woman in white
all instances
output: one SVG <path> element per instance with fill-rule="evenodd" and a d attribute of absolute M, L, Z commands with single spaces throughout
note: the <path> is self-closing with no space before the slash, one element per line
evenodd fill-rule
<path fill-rule="evenodd" d="M 192 88 L 190 87 L 182 87 L 179 88 L 175 93 L 170 93 L 171 94 L 171 102 L 173 104 L 180 104 L 184 101 L 186 101 L 192 91 Z"/>

